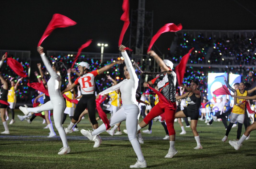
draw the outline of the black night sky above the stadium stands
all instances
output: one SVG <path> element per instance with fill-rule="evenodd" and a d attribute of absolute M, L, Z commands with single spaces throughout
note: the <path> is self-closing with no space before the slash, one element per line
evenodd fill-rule
<path fill-rule="evenodd" d="M 238 2 L 256 14 L 256 1 Z M 136 9 L 137 3 L 130 0 L 130 9 Z M 0 49 L 30 50 L 32 57 L 39 57 L 37 43 L 52 15 L 60 13 L 78 24 L 54 30 L 42 43 L 45 50 L 77 51 L 87 39 L 93 39 L 84 52 L 100 52 L 97 43 L 102 42 L 109 44 L 104 52 L 118 53 L 122 0 L 3 0 L 0 5 Z M 153 34 L 166 23 L 181 23 L 183 29 L 256 29 L 255 14 L 234 0 L 146 0 L 146 10 L 154 11 Z M 156 42 L 162 53 L 171 44 L 171 34 L 162 35 Z M 123 42 L 128 40 L 129 30 Z"/>

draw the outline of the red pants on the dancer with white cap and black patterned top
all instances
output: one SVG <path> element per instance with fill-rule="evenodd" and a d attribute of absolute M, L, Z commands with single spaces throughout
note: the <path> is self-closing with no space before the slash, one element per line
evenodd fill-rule
<path fill-rule="evenodd" d="M 174 135 L 175 134 L 174 116 L 175 116 L 175 113 L 176 113 L 177 105 L 176 105 L 176 102 L 174 102 L 172 104 L 173 104 L 174 107 L 170 108 L 170 107 L 166 106 L 162 101 L 158 102 L 151 109 L 151 111 L 147 114 L 147 116 L 143 119 L 143 121 L 146 124 L 148 124 L 149 121 L 151 121 L 153 118 L 155 118 L 155 117 L 164 113 L 169 135 Z"/>

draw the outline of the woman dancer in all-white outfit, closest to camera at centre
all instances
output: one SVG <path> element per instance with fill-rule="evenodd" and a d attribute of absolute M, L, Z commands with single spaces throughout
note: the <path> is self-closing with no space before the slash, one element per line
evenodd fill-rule
<path fill-rule="evenodd" d="M 125 67 L 124 67 L 124 76 L 125 80 L 120 82 L 119 84 L 100 92 L 100 95 L 104 95 L 120 89 L 122 93 L 122 103 L 123 107 L 119 109 L 109 120 L 110 126 L 113 126 L 119 122 L 126 120 L 126 129 L 128 132 L 129 140 L 133 146 L 133 149 L 138 157 L 138 161 L 135 165 L 131 165 L 130 168 L 146 168 L 147 163 L 143 157 L 140 143 L 137 140 L 137 125 L 138 118 L 140 116 L 140 108 L 138 107 L 138 102 L 136 101 L 136 89 L 138 87 L 138 77 L 135 74 L 134 68 L 132 66 L 132 62 L 130 61 L 129 56 L 124 50 L 124 46 L 121 45 L 119 50 L 121 51 L 122 56 L 124 57 Z M 106 127 L 102 124 L 98 129 L 94 131 L 90 130 L 81 130 L 81 133 L 85 135 L 90 140 L 94 140 L 96 136 L 103 131 L 106 131 Z"/>

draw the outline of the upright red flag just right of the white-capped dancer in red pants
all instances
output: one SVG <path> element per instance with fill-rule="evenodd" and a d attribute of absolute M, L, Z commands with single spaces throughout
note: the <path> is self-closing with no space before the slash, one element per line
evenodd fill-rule
<path fill-rule="evenodd" d="M 186 65 L 188 63 L 188 58 L 193 49 L 194 48 L 190 49 L 188 53 L 181 58 L 180 63 L 175 67 L 175 72 L 177 74 L 177 80 L 179 85 L 182 84 L 183 77 L 185 75 Z"/>

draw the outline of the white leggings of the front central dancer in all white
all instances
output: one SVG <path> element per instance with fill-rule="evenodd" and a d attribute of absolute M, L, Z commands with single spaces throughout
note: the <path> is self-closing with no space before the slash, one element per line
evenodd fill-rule
<path fill-rule="evenodd" d="M 132 144 L 133 150 L 135 151 L 138 160 L 141 162 L 144 161 L 144 157 L 141 151 L 141 145 L 138 142 L 136 137 L 137 135 L 137 126 L 138 126 L 138 118 L 140 117 L 140 108 L 136 104 L 132 105 L 123 105 L 121 109 L 119 109 L 110 119 L 110 126 L 114 126 L 115 124 L 126 120 L 126 129 L 128 133 L 128 138 Z M 92 132 L 92 135 L 98 135 L 106 131 L 105 124 L 102 124 L 98 129 Z"/>

